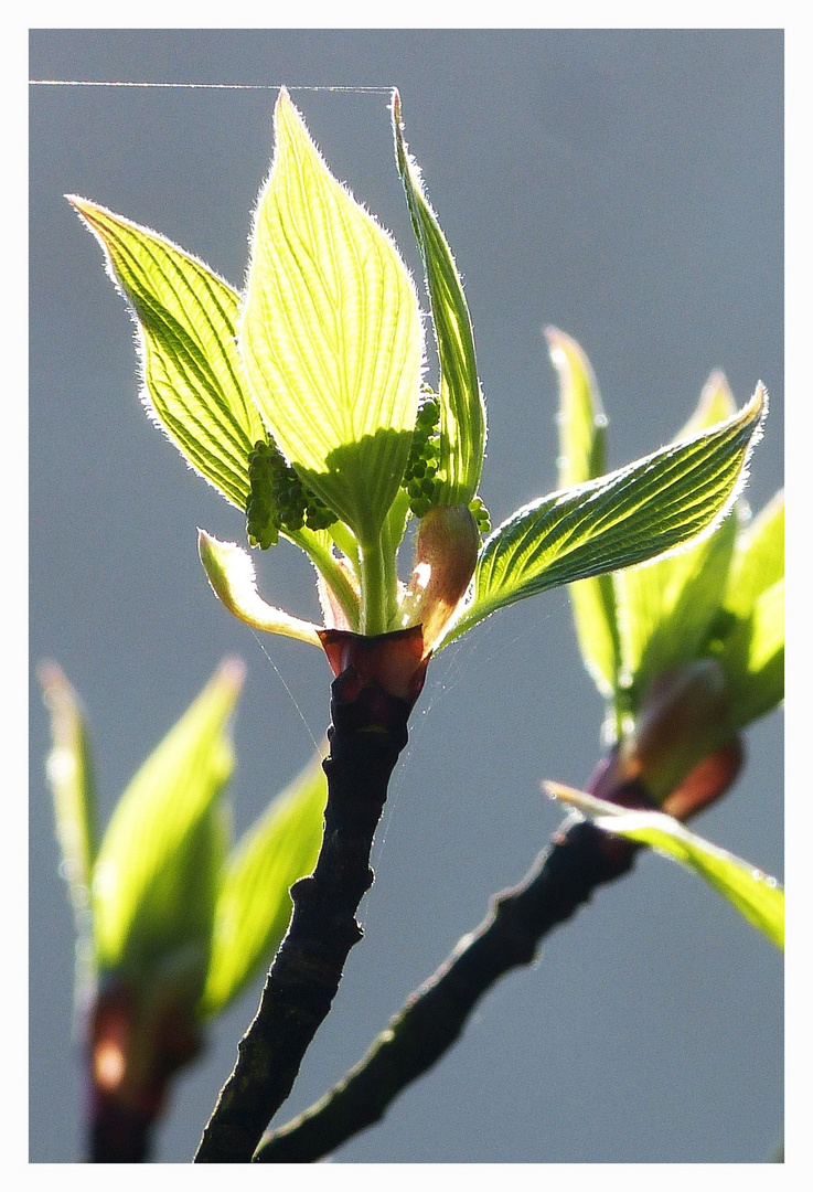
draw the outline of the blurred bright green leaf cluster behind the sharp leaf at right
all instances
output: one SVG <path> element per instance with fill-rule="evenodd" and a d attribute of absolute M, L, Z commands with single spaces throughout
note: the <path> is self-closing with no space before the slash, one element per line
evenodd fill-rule
<path fill-rule="evenodd" d="M 576 341 L 554 329 L 547 336 L 559 374 L 560 482 L 589 488 L 601 483 L 596 477 L 604 468 L 608 423 L 601 395 Z M 730 435 L 743 433 L 731 424 L 734 409 L 725 377 L 713 373 L 678 433 L 678 440 L 696 445 L 701 466 L 718 485 L 730 479 L 712 443 L 722 426 Z M 722 671 L 728 695 L 724 734 L 782 701 L 784 493 L 755 517 L 743 498 L 736 499 L 743 480 L 740 474 L 728 489 L 722 511 L 731 516 L 718 516 L 682 550 L 570 589 L 582 657 L 608 702 L 610 741 L 633 731 L 659 676 L 695 659 L 714 658 Z M 662 502 L 659 515 L 668 535 L 671 507 Z"/>

